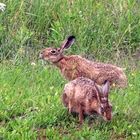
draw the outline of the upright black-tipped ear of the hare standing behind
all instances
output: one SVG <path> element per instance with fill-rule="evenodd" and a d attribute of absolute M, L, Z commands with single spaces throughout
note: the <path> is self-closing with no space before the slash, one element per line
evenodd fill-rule
<path fill-rule="evenodd" d="M 60 50 L 63 51 L 63 49 L 68 49 L 75 41 L 75 36 L 69 36 L 62 46 L 60 47 Z"/>

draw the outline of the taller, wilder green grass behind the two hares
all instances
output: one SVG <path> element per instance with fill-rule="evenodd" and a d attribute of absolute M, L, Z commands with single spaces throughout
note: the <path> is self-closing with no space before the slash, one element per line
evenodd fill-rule
<path fill-rule="evenodd" d="M 76 36 L 71 51 L 96 58 L 130 55 L 140 43 L 136 0 L 2 0 L 0 60 L 32 57 L 42 47 Z M 112 59 L 112 58 L 111 58 Z"/>

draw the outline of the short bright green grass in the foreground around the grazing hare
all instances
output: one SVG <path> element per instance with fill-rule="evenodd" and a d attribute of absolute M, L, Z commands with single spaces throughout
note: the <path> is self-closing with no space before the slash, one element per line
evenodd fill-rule
<path fill-rule="evenodd" d="M 113 119 L 86 118 L 84 125 L 68 114 L 61 102 L 67 82 L 59 71 L 36 62 L 0 64 L 0 137 L 1 139 L 140 139 L 140 72 L 127 70 L 128 88 L 113 90 Z"/>

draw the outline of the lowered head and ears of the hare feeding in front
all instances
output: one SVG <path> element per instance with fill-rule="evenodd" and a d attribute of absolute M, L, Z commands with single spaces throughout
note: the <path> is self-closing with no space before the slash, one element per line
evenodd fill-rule
<path fill-rule="evenodd" d="M 108 100 L 109 94 L 109 81 L 105 81 L 102 88 L 99 89 L 99 100 L 100 100 L 100 114 L 105 121 L 110 121 L 112 119 L 112 105 Z"/>

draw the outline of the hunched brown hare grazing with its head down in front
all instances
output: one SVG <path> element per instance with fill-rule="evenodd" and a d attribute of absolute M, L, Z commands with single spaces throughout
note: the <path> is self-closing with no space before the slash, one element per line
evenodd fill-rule
<path fill-rule="evenodd" d="M 99 87 L 93 80 L 78 77 L 64 87 L 62 101 L 69 113 L 79 114 L 79 122 L 83 123 L 83 115 L 100 114 L 105 121 L 112 119 L 112 105 L 108 100 L 109 81 Z"/>

